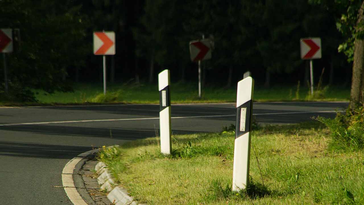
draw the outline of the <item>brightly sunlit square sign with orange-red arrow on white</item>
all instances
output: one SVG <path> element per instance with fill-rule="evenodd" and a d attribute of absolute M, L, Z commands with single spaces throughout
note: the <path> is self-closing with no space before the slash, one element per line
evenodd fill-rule
<path fill-rule="evenodd" d="M 94 32 L 94 54 L 115 55 L 115 32 Z"/>

